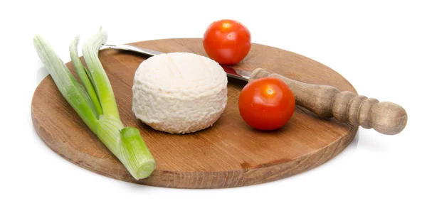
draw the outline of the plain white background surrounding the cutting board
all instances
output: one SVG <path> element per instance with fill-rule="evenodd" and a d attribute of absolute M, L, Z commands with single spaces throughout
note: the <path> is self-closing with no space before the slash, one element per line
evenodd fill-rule
<path fill-rule="evenodd" d="M 137 2 L 1 1 L 0 212 L 427 212 L 423 1 Z M 33 49 L 36 33 L 69 61 L 74 35 L 85 40 L 99 26 L 108 43 L 120 44 L 201 37 L 221 18 L 248 26 L 254 43 L 332 67 L 359 94 L 401 104 L 406 129 L 384 136 L 361 128 L 349 148 L 319 168 L 223 190 L 105 178 L 68 163 L 36 135 L 31 97 L 46 76 Z"/>

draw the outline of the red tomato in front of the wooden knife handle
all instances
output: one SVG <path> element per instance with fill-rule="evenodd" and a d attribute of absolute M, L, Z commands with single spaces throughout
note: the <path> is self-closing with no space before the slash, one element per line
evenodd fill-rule
<path fill-rule="evenodd" d="M 294 113 L 295 97 L 283 80 L 263 77 L 243 87 L 238 109 L 246 124 L 255 129 L 279 129 Z"/>

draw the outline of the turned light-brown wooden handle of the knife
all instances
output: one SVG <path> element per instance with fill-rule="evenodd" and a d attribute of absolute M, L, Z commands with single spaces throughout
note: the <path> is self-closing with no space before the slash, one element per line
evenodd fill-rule
<path fill-rule="evenodd" d="M 391 102 L 379 102 L 353 92 L 339 91 L 327 85 L 307 84 L 291 80 L 267 70 L 254 70 L 249 82 L 261 77 L 277 77 L 283 80 L 295 95 L 295 103 L 322 118 L 334 117 L 338 121 L 379 133 L 394 135 L 404 130 L 408 115 L 406 110 Z"/>

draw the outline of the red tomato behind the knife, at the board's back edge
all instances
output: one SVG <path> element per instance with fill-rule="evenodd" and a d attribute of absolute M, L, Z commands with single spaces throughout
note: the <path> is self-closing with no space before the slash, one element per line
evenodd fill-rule
<path fill-rule="evenodd" d="M 251 33 L 238 21 L 215 21 L 204 33 L 203 46 L 212 60 L 221 65 L 234 65 L 251 50 Z"/>

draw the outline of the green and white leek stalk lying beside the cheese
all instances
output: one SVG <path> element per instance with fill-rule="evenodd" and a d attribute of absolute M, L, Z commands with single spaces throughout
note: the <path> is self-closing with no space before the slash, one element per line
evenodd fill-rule
<path fill-rule="evenodd" d="M 56 87 L 89 129 L 133 178 L 147 178 L 156 167 L 154 158 L 139 130 L 123 126 L 110 81 L 98 58 L 100 46 L 107 40 L 107 32 L 100 29 L 83 44 L 83 58 L 88 69 L 78 57 L 78 40 L 76 37 L 70 43 L 70 58 L 83 86 L 41 35 L 36 35 L 33 43 Z"/>

